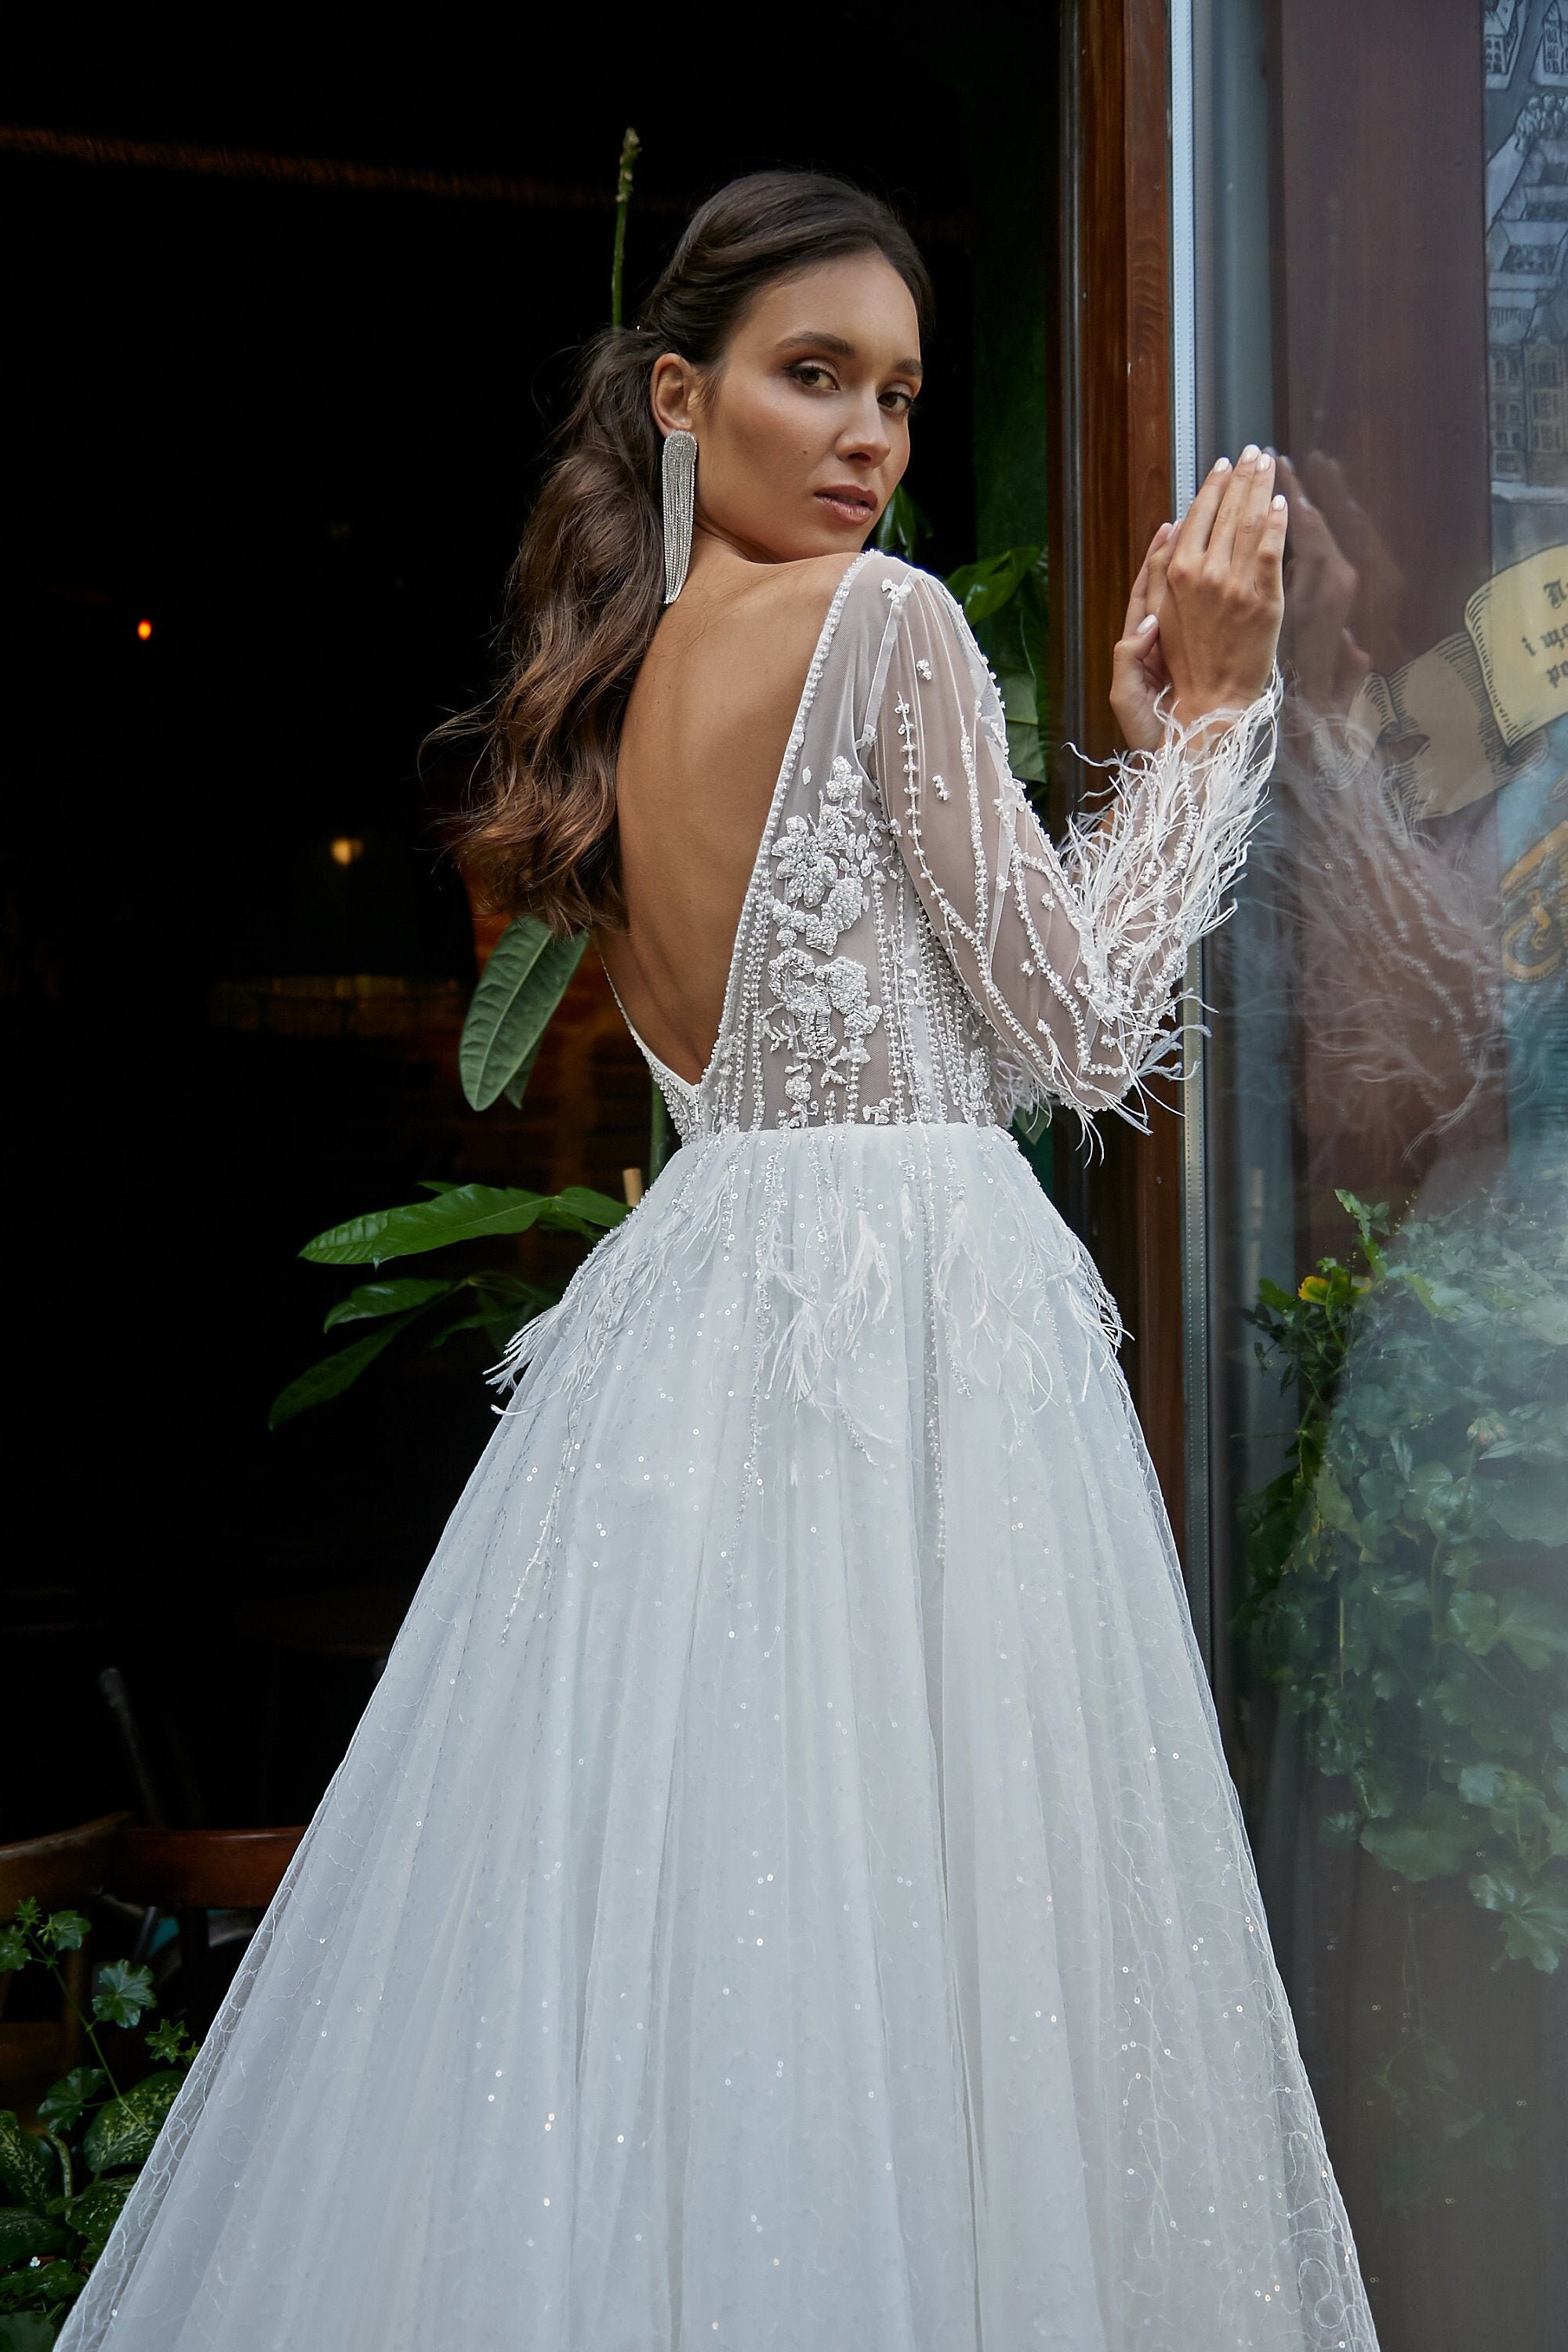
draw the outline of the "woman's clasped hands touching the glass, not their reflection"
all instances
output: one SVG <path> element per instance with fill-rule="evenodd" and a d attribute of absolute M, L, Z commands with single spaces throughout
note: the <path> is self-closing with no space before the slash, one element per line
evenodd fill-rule
<path fill-rule="evenodd" d="M 1150 541 L 1112 656 L 1112 708 L 1135 750 L 1157 750 L 1154 696 L 1190 727 L 1246 710 L 1269 682 L 1284 619 L 1288 506 L 1274 459 L 1248 445 L 1220 459 L 1171 529 Z"/>

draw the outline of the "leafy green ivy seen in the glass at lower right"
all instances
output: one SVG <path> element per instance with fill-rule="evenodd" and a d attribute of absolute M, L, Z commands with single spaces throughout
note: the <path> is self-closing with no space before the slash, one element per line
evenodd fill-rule
<path fill-rule="evenodd" d="M 1237 1613 L 1338 1783 L 1321 1823 L 1403 1879 L 1465 1879 L 1497 1959 L 1568 1950 L 1568 1171 L 1408 1218 L 1338 1200 L 1354 1258 L 1265 1282 L 1298 1397 L 1244 1508 Z"/>

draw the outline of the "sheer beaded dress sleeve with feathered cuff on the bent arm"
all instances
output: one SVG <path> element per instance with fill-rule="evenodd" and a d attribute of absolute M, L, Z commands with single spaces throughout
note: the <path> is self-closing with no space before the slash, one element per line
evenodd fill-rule
<path fill-rule="evenodd" d="M 1124 753 L 1112 797 L 1058 844 L 1013 779 L 1001 696 L 954 597 L 926 572 L 891 602 L 865 743 L 914 889 L 1001 1040 L 1013 1108 L 1147 1127 L 1143 1082 L 1180 1068 L 1187 950 L 1229 913 L 1274 762 L 1279 670 L 1201 746 Z M 1131 1103 L 1131 1108 L 1128 1108 Z"/>

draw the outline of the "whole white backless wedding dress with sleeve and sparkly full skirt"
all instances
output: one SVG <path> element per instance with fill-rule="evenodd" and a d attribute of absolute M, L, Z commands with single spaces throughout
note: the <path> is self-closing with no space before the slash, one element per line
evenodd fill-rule
<path fill-rule="evenodd" d="M 1276 696 L 1053 847 L 947 590 L 849 567 L 684 1148 L 520 1334 L 59 2352 L 1375 2352 L 1009 1136 L 1168 1058 Z"/>

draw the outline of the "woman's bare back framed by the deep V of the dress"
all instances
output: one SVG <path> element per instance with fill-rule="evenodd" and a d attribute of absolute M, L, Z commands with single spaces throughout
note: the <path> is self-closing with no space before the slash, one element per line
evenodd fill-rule
<path fill-rule="evenodd" d="M 745 887 L 842 555 L 752 564 L 715 550 L 663 614 L 621 729 L 625 931 L 595 948 L 677 1077 L 712 1054 Z"/>

